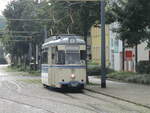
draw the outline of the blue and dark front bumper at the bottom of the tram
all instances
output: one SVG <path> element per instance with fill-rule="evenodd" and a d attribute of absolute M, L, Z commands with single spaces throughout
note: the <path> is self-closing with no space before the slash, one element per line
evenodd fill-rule
<path fill-rule="evenodd" d="M 84 89 L 85 83 L 78 81 L 60 82 L 61 88 L 80 88 Z"/>

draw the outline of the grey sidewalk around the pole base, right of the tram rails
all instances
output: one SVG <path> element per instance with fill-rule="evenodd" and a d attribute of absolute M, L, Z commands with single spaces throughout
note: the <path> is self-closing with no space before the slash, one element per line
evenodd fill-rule
<path fill-rule="evenodd" d="M 99 85 L 87 85 L 87 90 L 150 108 L 150 86 L 107 80 L 107 88 L 102 89 L 100 79 L 89 77 L 89 81 Z"/>

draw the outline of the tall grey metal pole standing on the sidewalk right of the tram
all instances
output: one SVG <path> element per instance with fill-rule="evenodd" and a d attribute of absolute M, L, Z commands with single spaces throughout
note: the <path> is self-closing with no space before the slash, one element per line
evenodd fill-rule
<path fill-rule="evenodd" d="M 105 1 L 101 0 L 101 88 L 106 88 Z"/>

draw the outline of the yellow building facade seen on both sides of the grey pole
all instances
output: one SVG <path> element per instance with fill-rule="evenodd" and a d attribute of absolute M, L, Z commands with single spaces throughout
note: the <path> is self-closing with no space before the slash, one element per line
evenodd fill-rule
<path fill-rule="evenodd" d="M 109 50 L 110 50 L 110 34 L 109 25 L 106 25 L 106 64 L 109 66 Z M 93 63 L 101 64 L 101 29 L 100 25 L 91 27 L 91 60 Z"/>

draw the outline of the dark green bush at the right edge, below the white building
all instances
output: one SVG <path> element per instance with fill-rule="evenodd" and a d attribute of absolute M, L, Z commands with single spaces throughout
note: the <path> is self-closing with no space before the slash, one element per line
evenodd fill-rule
<path fill-rule="evenodd" d="M 140 61 L 137 64 L 137 72 L 142 74 L 150 74 L 150 61 Z"/>

